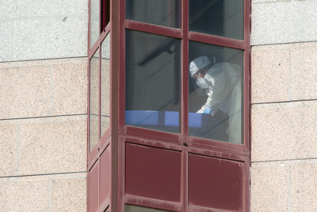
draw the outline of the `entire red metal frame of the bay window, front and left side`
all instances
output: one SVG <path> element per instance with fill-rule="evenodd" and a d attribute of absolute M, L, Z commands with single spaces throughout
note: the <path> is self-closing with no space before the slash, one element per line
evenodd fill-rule
<path fill-rule="evenodd" d="M 105 16 L 101 11 L 99 19 L 103 20 Z M 104 4 L 103 4 L 104 5 Z M 243 191 L 243 211 L 248 211 L 249 205 L 249 156 L 250 156 L 250 74 L 249 74 L 249 55 L 250 55 L 250 1 L 244 0 L 244 40 L 234 40 L 213 35 L 206 35 L 188 30 L 188 1 L 182 1 L 181 5 L 181 29 L 174 29 L 164 26 L 157 26 L 148 23 L 142 23 L 125 19 L 125 0 L 110 0 L 110 21 L 103 29 L 100 22 L 99 37 L 90 49 L 90 0 L 89 0 L 89 21 L 88 21 L 88 133 L 87 133 L 87 168 L 96 164 L 99 160 L 99 154 L 106 147 L 111 148 L 111 191 L 110 211 L 124 211 L 125 204 L 139 205 L 143 207 L 158 208 L 162 210 L 183 211 L 208 211 L 199 207 L 188 205 L 188 153 L 200 155 L 227 158 L 244 163 L 244 191 Z M 125 125 L 125 31 L 126 29 L 139 30 L 173 38 L 181 39 L 182 56 L 181 56 L 181 133 L 169 133 L 151 129 L 139 128 Z M 90 76 L 89 61 L 95 51 L 99 51 L 101 43 L 110 33 L 110 127 L 106 133 L 98 140 L 98 143 L 89 153 L 89 123 L 90 123 Z M 232 47 L 244 50 L 244 123 L 243 134 L 244 144 L 232 144 L 216 140 L 192 137 L 188 135 L 188 46 L 189 41 L 198 41 L 202 43 L 215 44 L 219 46 Z M 100 54 L 99 54 L 100 55 Z M 100 58 L 99 58 L 99 119 L 98 133 L 100 136 Z M 150 200 L 142 197 L 125 195 L 125 144 L 132 142 L 136 144 L 160 147 L 166 149 L 176 149 L 182 154 L 182 194 L 181 203 L 168 203 L 159 200 Z M 187 145 L 184 146 L 183 143 Z M 100 166 L 98 167 L 100 172 Z M 100 176 L 99 176 L 100 177 Z M 89 175 L 88 175 L 89 178 Z M 89 179 L 88 179 L 89 181 Z M 99 182 L 99 181 L 98 181 Z M 87 187 L 89 185 L 87 184 Z M 98 191 L 94 195 L 99 198 Z M 88 188 L 89 191 L 89 188 Z M 88 194 L 89 195 L 89 194 Z M 88 200 L 87 200 L 88 201 Z M 99 201 L 99 200 L 98 200 Z M 163 203 L 163 204 L 162 204 Z M 99 202 L 98 202 L 99 204 Z M 89 206 L 89 203 L 88 203 Z M 99 206 L 99 211 L 104 209 Z M 107 206 L 108 207 L 108 206 Z M 109 208 L 108 208 L 109 210 Z"/>

